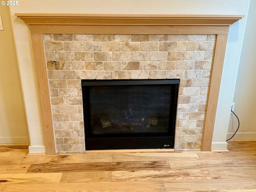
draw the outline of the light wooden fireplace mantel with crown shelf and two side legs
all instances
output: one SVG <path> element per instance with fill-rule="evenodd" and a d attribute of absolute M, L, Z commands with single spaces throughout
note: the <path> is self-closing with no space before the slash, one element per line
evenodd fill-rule
<path fill-rule="evenodd" d="M 229 26 L 244 15 L 27 14 L 43 122 L 46 154 L 56 154 L 42 34 L 216 34 L 202 151 L 210 151 Z"/>

